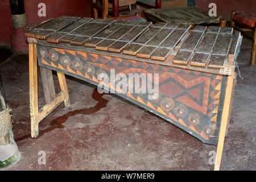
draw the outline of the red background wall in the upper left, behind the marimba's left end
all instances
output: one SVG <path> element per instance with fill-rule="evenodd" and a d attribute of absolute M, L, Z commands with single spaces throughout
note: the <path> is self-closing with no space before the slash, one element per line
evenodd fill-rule
<path fill-rule="evenodd" d="M 42 2 L 46 4 L 46 17 L 38 16 L 38 4 Z M 90 17 L 90 2 L 90 0 L 24 0 L 27 23 L 28 25 L 38 23 L 61 15 Z M 10 15 L 10 1 L 0 0 L 0 45 L 10 46 L 10 36 L 13 30 Z"/>

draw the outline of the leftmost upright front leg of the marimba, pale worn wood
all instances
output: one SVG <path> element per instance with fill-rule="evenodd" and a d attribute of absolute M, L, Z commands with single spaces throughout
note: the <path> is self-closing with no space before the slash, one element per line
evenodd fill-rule
<path fill-rule="evenodd" d="M 31 137 L 38 136 L 38 123 L 36 115 L 38 114 L 38 66 L 35 44 L 28 44 L 29 51 L 29 72 L 30 72 L 30 116 L 31 116 Z"/>

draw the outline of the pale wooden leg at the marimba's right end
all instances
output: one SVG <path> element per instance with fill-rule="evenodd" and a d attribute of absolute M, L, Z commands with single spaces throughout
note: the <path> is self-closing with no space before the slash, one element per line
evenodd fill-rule
<path fill-rule="evenodd" d="M 227 126 L 228 117 L 229 117 L 229 109 L 230 109 L 229 105 L 232 98 L 233 83 L 234 83 L 234 73 L 233 75 L 228 76 L 228 82 L 226 85 L 226 93 L 225 93 L 225 100 L 224 100 L 224 106 L 222 111 L 220 134 L 218 136 L 218 145 L 217 145 L 214 171 L 220 170 L 220 163 L 221 163 L 222 151 L 223 151 L 225 134 L 226 134 L 226 126 Z"/>

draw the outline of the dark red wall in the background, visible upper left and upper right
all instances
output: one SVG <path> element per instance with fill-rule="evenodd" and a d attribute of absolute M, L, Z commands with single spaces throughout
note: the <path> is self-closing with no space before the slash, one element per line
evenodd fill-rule
<path fill-rule="evenodd" d="M 46 3 L 46 17 L 38 16 L 38 4 Z M 90 17 L 90 0 L 24 0 L 28 24 L 60 15 Z M 209 10 L 209 3 L 217 5 L 217 14 L 229 20 L 232 10 L 256 12 L 255 0 L 196 0 L 196 6 Z M 10 19 L 9 0 L 0 0 L 0 45 L 10 46 L 13 23 Z"/>

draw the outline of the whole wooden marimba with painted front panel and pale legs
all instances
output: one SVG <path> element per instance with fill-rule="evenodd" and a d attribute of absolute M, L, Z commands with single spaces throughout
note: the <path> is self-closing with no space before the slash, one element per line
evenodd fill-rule
<path fill-rule="evenodd" d="M 159 96 L 122 92 L 105 86 L 166 119 L 204 143 L 217 144 L 220 168 L 229 120 L 235 61 L 242 36 L 233 28 L 175 23 L 132 22 L 60 16 L 28 27 L 31 136 L 38 124 L 69 96 L 64 74 L 98 85 L 100 73 L 158 73 Z M 46 105 L 38 109 L 40 67 Z M 61 92 L 55 96 L 51 71 L 57 71 Z M 114 80 L 117 83 L 120 80 Z M 150 80 L 154 82 L 155 80 Z M 140 85 L 142 86 L 142 85 Z"/>

